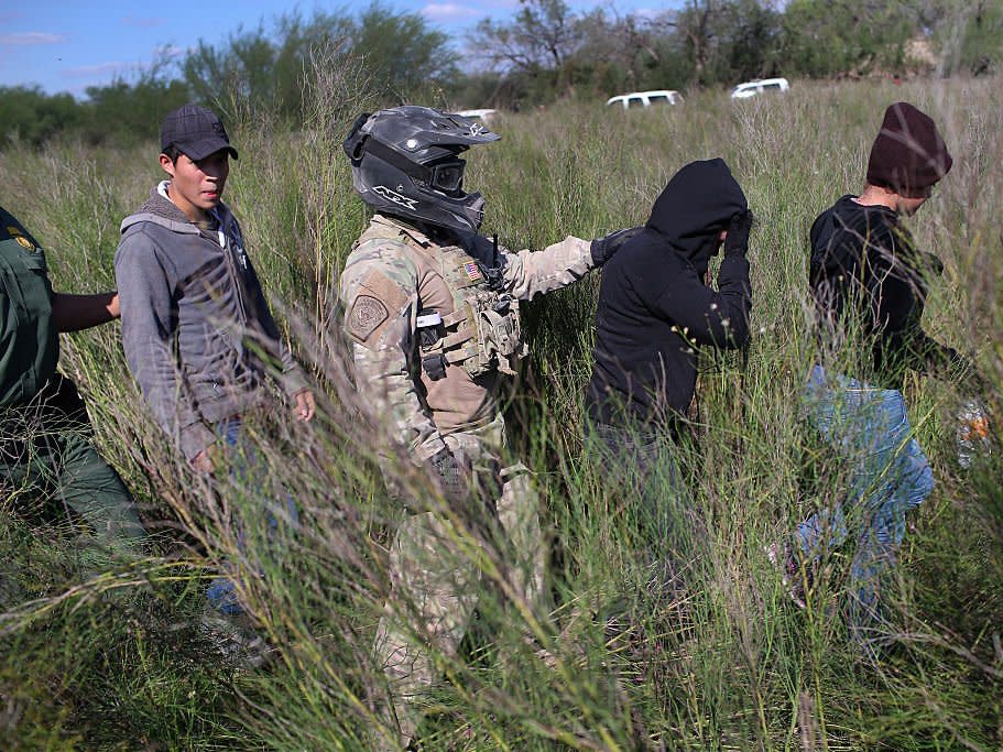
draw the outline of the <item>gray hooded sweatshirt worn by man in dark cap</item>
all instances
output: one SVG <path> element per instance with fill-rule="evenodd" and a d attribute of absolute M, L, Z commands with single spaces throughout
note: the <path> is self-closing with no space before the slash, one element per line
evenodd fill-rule
<path fill-rule="evenodd" d="M 194 458 L 215 424 L 266 396 L 273 373 L 293 395 L 305 388 L 243 250 L 237 219 L 220 204 L 218 228 L 200 230 L 161 183 L 122 221 L 115 275 L 122 347 L 153 416 Z"/>

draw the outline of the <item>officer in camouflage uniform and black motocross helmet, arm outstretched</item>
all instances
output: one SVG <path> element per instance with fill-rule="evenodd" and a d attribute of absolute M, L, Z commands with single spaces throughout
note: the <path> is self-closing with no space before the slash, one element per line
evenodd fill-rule
<path fill-rule="evenodd" d="M 379 212 L 340 279 L 358 389 L 393 440 L 438 477 L 448 504 L 433 512 L 405 502 L 390 553 L 393 595 L 375 653 L 405 739 L 416 727 L 412 698 L 436 678 L 413 635 L 455 655 L 477 603 L 477 566 L 444 553 L 458 524 L 493 528 L 483 541 L 509 558 L 513 591 L 542 610 L 538 495 L 526 467 L 506 457 L 495 400 L 501 374 L 514 374 L 527 352 L 520 301 L 579 280 L 635 231 L 568 237 L 535 253 L 478 235 L 484 199 L 464 193 L 459 154 L 499 138 L 468 118 L 399 107 L 361 116 L 345 142 L 356 190 Z"/>

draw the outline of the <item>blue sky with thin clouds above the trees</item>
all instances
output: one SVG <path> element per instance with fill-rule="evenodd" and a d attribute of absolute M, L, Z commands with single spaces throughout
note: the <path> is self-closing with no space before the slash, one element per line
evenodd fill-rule
<path fill-rule="evenodd" d="M 84 95 L 88 86 L 115 76 L 131 80 L 157 57 L 179 54 L 198 40 L 218 44 L 236 31 L 257 28 L 298 9 L 355 12 L 370 0 L 291 3 L 283 0 L 172 0 L 163 4 L 138 0 L 0 0 L 0 86 L 39 85 L 48 94 Z M 519 0 L 386 0 L 383 7 L 421 13 L 429 25 L 461 33 L 480 19 L 505 19 Z M 657 0 L 569 0 L 576 10 L 614 8 L 619 13 L 652 12 Z"/>

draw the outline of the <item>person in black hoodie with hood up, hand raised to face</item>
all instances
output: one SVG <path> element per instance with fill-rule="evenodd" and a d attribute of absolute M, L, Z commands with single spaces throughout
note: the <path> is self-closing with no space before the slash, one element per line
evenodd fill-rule
<path fill-rule="evenodd" d="M 665 186 L 645 229 L 602 270 L 589 427 L 663 545 L 671 543 L 671 515 L 655 473 L 667 471 L 668 488 L 680 488 L 667 440 L 694 397 L 697 349 L 737 348 L 749 338 L 751 226 L 724 161 L 693 162 Z M 706 277 L 722 241 L 716 292 Z"/>

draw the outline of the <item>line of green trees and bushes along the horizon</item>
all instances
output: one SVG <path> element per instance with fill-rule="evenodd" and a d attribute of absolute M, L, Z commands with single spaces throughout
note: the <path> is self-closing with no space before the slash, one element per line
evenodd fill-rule
<path fill-rule="evenodd" d="M 520 0 L 511 19 L 484 19 L 462 39 L 377 1 L 358 14 L 292 12 L 238 28 L 131 80 L 88 87 L 84 99 L 0 87 L 0 148 L 63 133 L 94 143 L 145 139 L 186 101 L 230 118 L 264 112 L 301 123 L 310 112 L 307 81 L 321 66 L 353 72 L 353 85 L 377 101 L 519 109 L 774 75 L 982 75 L 1001 57 L 1003 0 L 685 0 L 625 14 Z"/>

